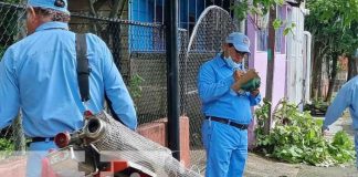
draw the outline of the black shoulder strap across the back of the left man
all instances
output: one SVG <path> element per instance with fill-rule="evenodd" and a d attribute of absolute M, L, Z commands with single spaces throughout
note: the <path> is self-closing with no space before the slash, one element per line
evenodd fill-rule
<path fill-rule="evenodd" d="M 77 80 L 81 94 L 81 101 L 90 100 L 90 83 L 88 76 L 91 69 L 87 59 L 87 42 L 86 34 L 76 33 L 76 55 L 77 55 Z"/>

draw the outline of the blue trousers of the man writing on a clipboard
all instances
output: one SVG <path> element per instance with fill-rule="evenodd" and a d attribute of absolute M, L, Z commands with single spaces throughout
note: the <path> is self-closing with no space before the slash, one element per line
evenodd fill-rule
<path fill-rule="evenodd" d="M 248 158 L 248 131 L 206 119 L 201 133 L 206 177 L 241 177 Z"/>

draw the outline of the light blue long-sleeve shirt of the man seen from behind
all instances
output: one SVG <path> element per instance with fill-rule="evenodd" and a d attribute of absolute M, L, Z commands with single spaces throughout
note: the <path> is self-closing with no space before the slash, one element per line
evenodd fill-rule
<path fill-rule="evenodd" d="M 0 128 L 12 123 L 19 108 L 30 137 L 53 137 L 83 126 L 75 33 L 67 29 L 67 23 L 46 22 L 6 51 L 0 63 Z M 94 34 L 86 40 L 92 69 L 88 110 L 101 112 L 106 93 L 120 121 L 135 129 L 134 103 L 108 48 Z"/>

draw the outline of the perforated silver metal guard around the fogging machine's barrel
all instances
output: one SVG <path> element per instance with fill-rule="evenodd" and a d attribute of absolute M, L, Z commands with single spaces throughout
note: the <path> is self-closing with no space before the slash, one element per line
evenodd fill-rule
<path fill-rule="evenodd" d="M 106 128 L 104 135 L 93 143 L 101 154 L 101 160 L 126 159 L 152 170 L 158 177 L 200 176 L 175 159 L 170 149 L 133 132 L 107 113 L 101 112 L 95 117 Z"/>

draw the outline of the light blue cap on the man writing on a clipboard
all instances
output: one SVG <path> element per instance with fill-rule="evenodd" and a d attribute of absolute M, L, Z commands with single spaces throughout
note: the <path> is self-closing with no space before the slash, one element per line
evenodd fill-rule
<path fill-rule="evenodd" d="M 250 48 L 250 40 L 249 38 L 241 33 L 241 32 L 233 32 L 229 34 L 229 37 L 225 40 L 227 43 L 232 43 L 236 51 L 239 52 L 246 52 L 251 53 L 249 48 Z"/>

